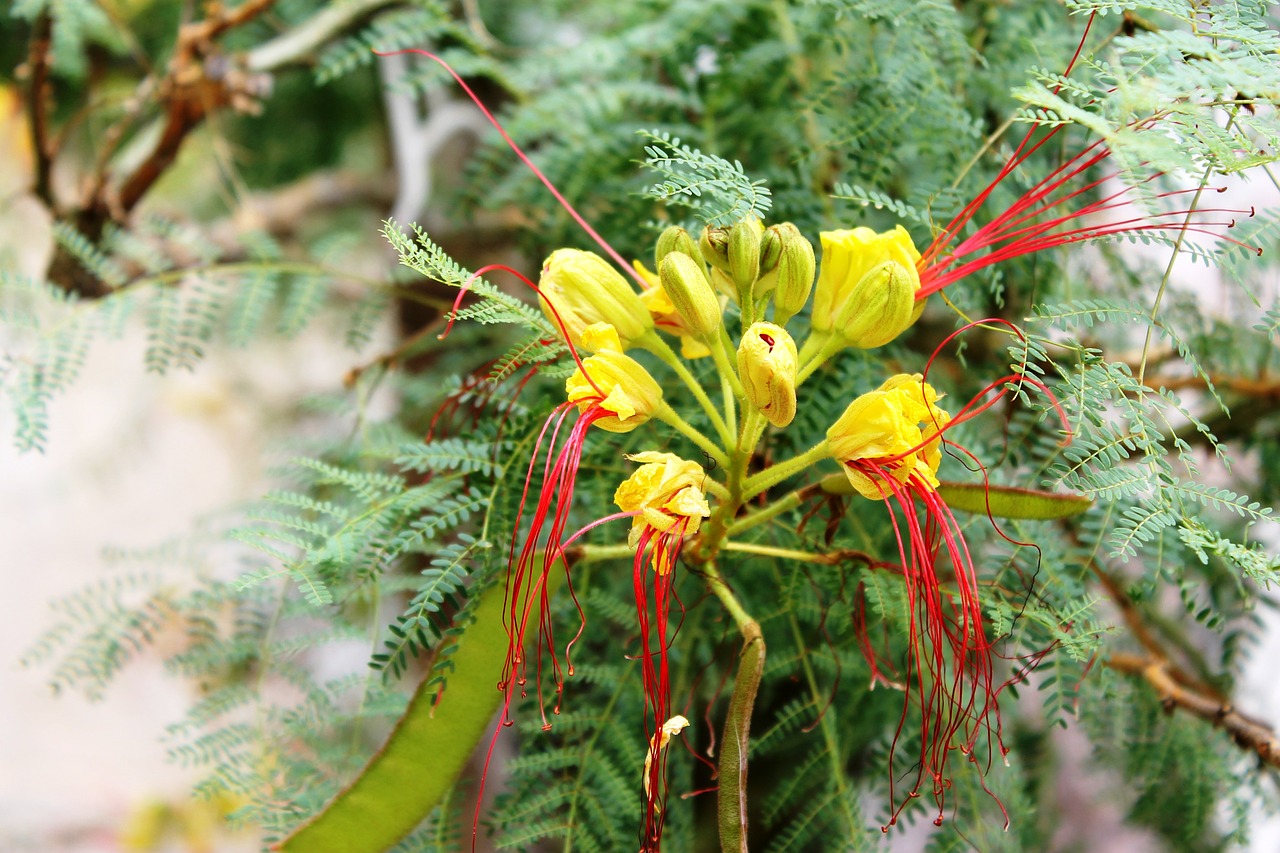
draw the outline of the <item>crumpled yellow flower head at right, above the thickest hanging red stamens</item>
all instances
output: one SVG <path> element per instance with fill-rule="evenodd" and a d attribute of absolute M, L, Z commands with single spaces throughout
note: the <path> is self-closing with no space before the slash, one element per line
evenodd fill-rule
<path fill-rule="evenodd" d="M 899 374 L 849 403 L 827 430 L 832 457 L 863 497 L 878 501 L 893 492 L 892 476 L 937 487 L 942 439 L 951 416 L 937 406 L 938 393 L 920 375 Z"/>

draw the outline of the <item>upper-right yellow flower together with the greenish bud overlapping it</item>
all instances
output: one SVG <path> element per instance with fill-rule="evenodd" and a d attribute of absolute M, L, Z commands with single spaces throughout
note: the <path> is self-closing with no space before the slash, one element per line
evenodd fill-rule
<path fill-rule="evenodd" d="M 813 328 L 844 336 L 855 347 L 877 347 L 919 316 L 915 292 L 920 252 L 901 225 L 824 231 L 822 269 L 813 297 Z"/>

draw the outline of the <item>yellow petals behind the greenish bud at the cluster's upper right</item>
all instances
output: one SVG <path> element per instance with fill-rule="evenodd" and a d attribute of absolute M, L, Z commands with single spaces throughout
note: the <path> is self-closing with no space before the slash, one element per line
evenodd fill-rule
<path fill-rule="evenodd" d="M 818 283 L 813 295 L 813 328 L 815 330 L 844 334 L 838 328 L 837 318 L 847 321 L 855 315 L 858 306 L 847 307 L 852 292 L 873 268 L 884 261 L 895 261 L 901 266 L 901 274 L 905 274 L 906 280 L 911 284 L 914 301 L 915 291 L 920 287 L 920 277 L 915 269 L 920 252 L 915 251 L 911 236 L 906 233 L 905 228 L 897 225 L 893 231 L 879 234 L 870 228 L 824 231 L 820 236 L 822 269 L 818 273 Z M 869 298 L 868 292 L 859 293 L 859 298 Z M 888 339 L 901 332 L 901 328 L 897 329 Z M 850 338 L 849 334 L 844 334 L 844 337 Z"/>

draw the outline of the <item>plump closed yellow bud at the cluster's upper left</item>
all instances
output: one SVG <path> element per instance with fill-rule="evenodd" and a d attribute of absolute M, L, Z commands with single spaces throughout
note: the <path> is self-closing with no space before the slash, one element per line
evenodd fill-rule
<path fill-rule="evenodd" d="M 577 248 L 558 248 L 543 261 L 538 302 L 558 332 L 564 324 L 575 347 L 593 323 L 616 328 L 623 347 L 653 330 L 653 318 L 627 279 L 599 255 Z"/>

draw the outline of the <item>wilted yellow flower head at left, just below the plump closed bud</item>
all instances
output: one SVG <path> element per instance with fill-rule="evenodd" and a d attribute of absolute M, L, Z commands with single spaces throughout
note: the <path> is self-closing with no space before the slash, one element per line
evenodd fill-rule
<path fill-rule="evenodd" d="M 630 433 L 653 418 L 662 406 L 662 387 L 644 365 L 622 353 L 617 330 L 607 323 L 591 324 L 582 330 L 582 342 L 598 352 L 582 360 L 586 375 L 579 368 L 564 382 L 568 401 L 582 412 L 593 406 L 612 412 L 593 421 L 611 433 Z"/>

